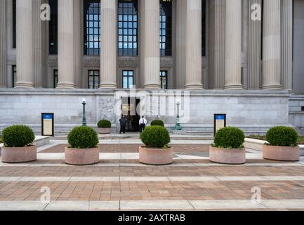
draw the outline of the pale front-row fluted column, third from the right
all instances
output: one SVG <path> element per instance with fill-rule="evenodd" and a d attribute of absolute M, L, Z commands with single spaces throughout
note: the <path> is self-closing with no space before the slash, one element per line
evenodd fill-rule
<path fill-rule="evenodd" d="M 203 89 L 201 83 L 201 0 L 187 0 L 185 89 Z"/>

